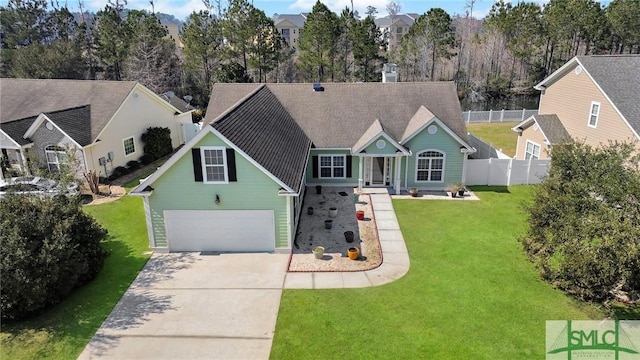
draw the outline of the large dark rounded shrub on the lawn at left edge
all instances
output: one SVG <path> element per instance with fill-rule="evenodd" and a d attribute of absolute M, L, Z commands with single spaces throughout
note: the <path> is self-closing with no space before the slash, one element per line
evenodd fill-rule
<path fill-rule="evenodd" d="M 92 280 L 107 231 L 77 197 L 9 195 L 0 201 L 0 310 L 18 320 L 59 303 Z"/>

